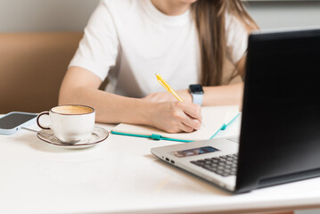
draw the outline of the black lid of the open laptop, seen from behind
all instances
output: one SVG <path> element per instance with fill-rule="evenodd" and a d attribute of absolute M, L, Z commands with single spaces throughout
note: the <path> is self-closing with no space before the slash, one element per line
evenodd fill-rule
<path fill-rule="evenodd" d="M 249 38 L 236 188 L 320 175 L 320 29 Z"/>

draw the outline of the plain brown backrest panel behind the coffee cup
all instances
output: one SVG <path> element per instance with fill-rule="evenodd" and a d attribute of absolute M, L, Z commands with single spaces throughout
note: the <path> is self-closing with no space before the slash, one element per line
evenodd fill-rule
<path fill-rule="evenodd" d="M 0 34 L 0 113 L 47 111 L 82 33 Z"/>

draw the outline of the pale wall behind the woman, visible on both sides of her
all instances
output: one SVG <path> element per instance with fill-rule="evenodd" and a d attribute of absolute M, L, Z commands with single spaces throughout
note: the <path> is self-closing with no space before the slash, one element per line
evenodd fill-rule
<path fill-rule="evenodd" d="M 117 0 L 121 1 L 121 0 Z M 247 1 L 262 29 L 320 26 L 320 1 Z M 99 0 L 0 0 L 0 32 L 79 31 Z"/>

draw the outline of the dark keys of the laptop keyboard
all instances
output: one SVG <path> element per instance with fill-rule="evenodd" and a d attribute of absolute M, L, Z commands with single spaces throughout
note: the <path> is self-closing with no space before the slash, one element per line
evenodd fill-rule
<path fill-rule="evenodd" d="M 238 154 L 229 154 L 209 159 L 191 161 L 191 163 L 222 177 L 235 176 L 238 162 Z"/>

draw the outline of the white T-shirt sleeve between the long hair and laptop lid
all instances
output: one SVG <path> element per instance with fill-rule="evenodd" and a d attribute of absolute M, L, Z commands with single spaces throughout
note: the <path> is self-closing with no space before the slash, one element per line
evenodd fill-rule
<path fill-rule="evenodd" d="M 226 14 L 226 54 L 236 64 L 247 51 L 248 31 L 234 15 Z"/>

